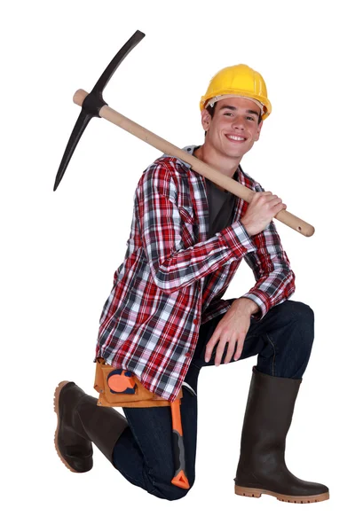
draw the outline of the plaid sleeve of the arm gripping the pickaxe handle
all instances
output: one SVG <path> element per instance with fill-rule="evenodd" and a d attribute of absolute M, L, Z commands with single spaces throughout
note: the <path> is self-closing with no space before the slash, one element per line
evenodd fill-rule
<path fill-rule="evenodd" d="M 177 179 L 178 175 L 163 162 L 154 163 L 146 169 L 137 189 L 136 212 L 147 262 L 155 284 L 165 293 L 174 293 L 223 264 L 256 251 L 240 222 L 184 248 Z"/>

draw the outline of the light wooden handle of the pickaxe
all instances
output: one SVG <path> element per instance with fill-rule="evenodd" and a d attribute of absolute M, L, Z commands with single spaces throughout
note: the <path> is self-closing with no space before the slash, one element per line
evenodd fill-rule
<path fill-rule="evenodd" d="M 88 92 L 83 89 L 76 90 L 74 95 L 74 102 L 77 106 L 83 106 L 83 100 L 88 96 Z M 188 165 L 193 168 L 194 171 L 201 174 L 201 176 L 207 177 L 213 183 L 223 187 L 225 190 L 232 192 L 235 196 L 238 196 L 242 200 L 250 201 L 253 198 L 253 195 L 256 193 L 248 189 L 248 187 L 240 184 L 228 176 L 225 176 L 221 172 L 218 172 L 215 168 L 209 167 L 208 164 L 202 160 L 197 159 L 193 155 L 186 153 L 184 150 L 181 150 L 176 145 L 170 144 L 167 140 L 162 137 L 158 137 L 149 131 L 149 129 L 139 126 L 135 121 L 131 121 L 123 114 L 117 113 L 109 106 L 101 107 L 99 115 L 102 118 L 105 118 L 107 121 L 114 123 L 116 126 L 128 131 L 135 137 L 144 140 L 148 145 L 154 146 L 157 150 L 160 150 L 162 153 L 166 153 L 172 157 L 177 157 L 177 159 L 184 160 Z M 282 209 L 275 218 L 285 225 L 288 225 L 291 229 L 301 233 L 304 237 L 312 237 L 314 233 L 314 227 L 307 222 L 304 222 L 301 218 L 298 218 L 295 215 L 289 213 L 286 209 Z"/>

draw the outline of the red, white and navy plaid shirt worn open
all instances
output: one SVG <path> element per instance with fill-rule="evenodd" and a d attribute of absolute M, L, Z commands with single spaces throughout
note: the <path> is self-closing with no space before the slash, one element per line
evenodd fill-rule
<path fill-rule="evenodd" d="M 184 149 L 191 152 L 194 146 Z M 264 189 L 238 168 L 238 181 Z M 245 259 L 256 285 L 242 297 L 262 319 L 295 291 L 295 276 L 274 223 L 249 238 L 235 197 L 233 223 L 207 239 L 205 178 L 182 160 L 162 156 L 146 168 L 134 196 L 124 261 L 100 317 L 96 356 L 130 370 L 157 395 L 173 401 L 193 357 L 200 325 L 225 313 L 222 296 Z"/>

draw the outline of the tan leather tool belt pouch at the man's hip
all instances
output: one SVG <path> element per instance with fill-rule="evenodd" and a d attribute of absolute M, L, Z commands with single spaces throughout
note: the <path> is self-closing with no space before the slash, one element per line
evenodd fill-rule
<path fill-rule="evenodd" d="M 146 389 L 132 372 L 114 369 L 113 366 L 106 364 L 105 358 L 102 357 L 96 359 L 94 388 L 99 392 L 98 406 L 125 408 L 170 406 L 169 401 Z M 177 399 L 181 399 L 182 396 L 181 388 Z"/>

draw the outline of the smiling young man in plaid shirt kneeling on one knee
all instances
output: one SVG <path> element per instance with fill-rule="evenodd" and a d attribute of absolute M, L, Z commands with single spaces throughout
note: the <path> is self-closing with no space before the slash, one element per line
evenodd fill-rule
<path fill-rule="evenodd" d="M 240 163 L 271 113 L 264 80 L 245 65 L 227 67 L 201 98 L 205 141 L 186 152 L 256 192 L 250 204 L 162 156 L 138 182 L 124 262 L 114 274 L 99 327 L 97 357 L 132 372 L 150 392 L 173 401 L 181 387 L 185 473 L 194 481 L 197 380 L 202 366 L 257 355 L 241 434 L 235 493 L 289 502 L 328 498 L 326 486 L 289 473 L 285 440 L 311 354 L 313 312 L 288 301 L 295 276 L 272 218 L 286 205 L 243 172 Z M 222 297 L 241 259 L 256 284 Z M 188 489 L 171 483 L 169 406 L 97 406 L 74 382 L 59 384 L 56 447 L 75 472 L 89 471 L 94 442 L 116 469 L 156 497 Z"/>

